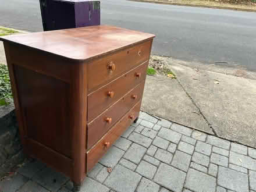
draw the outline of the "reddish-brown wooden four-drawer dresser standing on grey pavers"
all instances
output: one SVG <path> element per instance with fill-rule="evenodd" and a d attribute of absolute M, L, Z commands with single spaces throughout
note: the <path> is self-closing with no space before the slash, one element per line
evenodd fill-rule
<path fill-rule="evenodd" d="M 77 189 L 137 120 L 153 38 L 113 26 L 1 37 L 24 152 Z"/>

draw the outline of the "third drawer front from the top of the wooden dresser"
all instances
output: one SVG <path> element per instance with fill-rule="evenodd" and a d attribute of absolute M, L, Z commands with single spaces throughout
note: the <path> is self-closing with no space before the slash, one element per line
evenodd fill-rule
<path fill-rule="evenodd" d="M 120 98 L 118 102 L 98 116 L 87 128 L 87 148 L 91 148 L 143 95 L 145 81 Z"/>

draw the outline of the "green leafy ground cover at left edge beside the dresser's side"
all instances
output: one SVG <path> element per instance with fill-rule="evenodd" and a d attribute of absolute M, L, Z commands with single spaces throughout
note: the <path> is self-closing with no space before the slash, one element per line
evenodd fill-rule
<path fill-rule="evenodd" d="M 9 105 L 12 99 L 8 67 L 0 64 L 0 106 Z"/>

